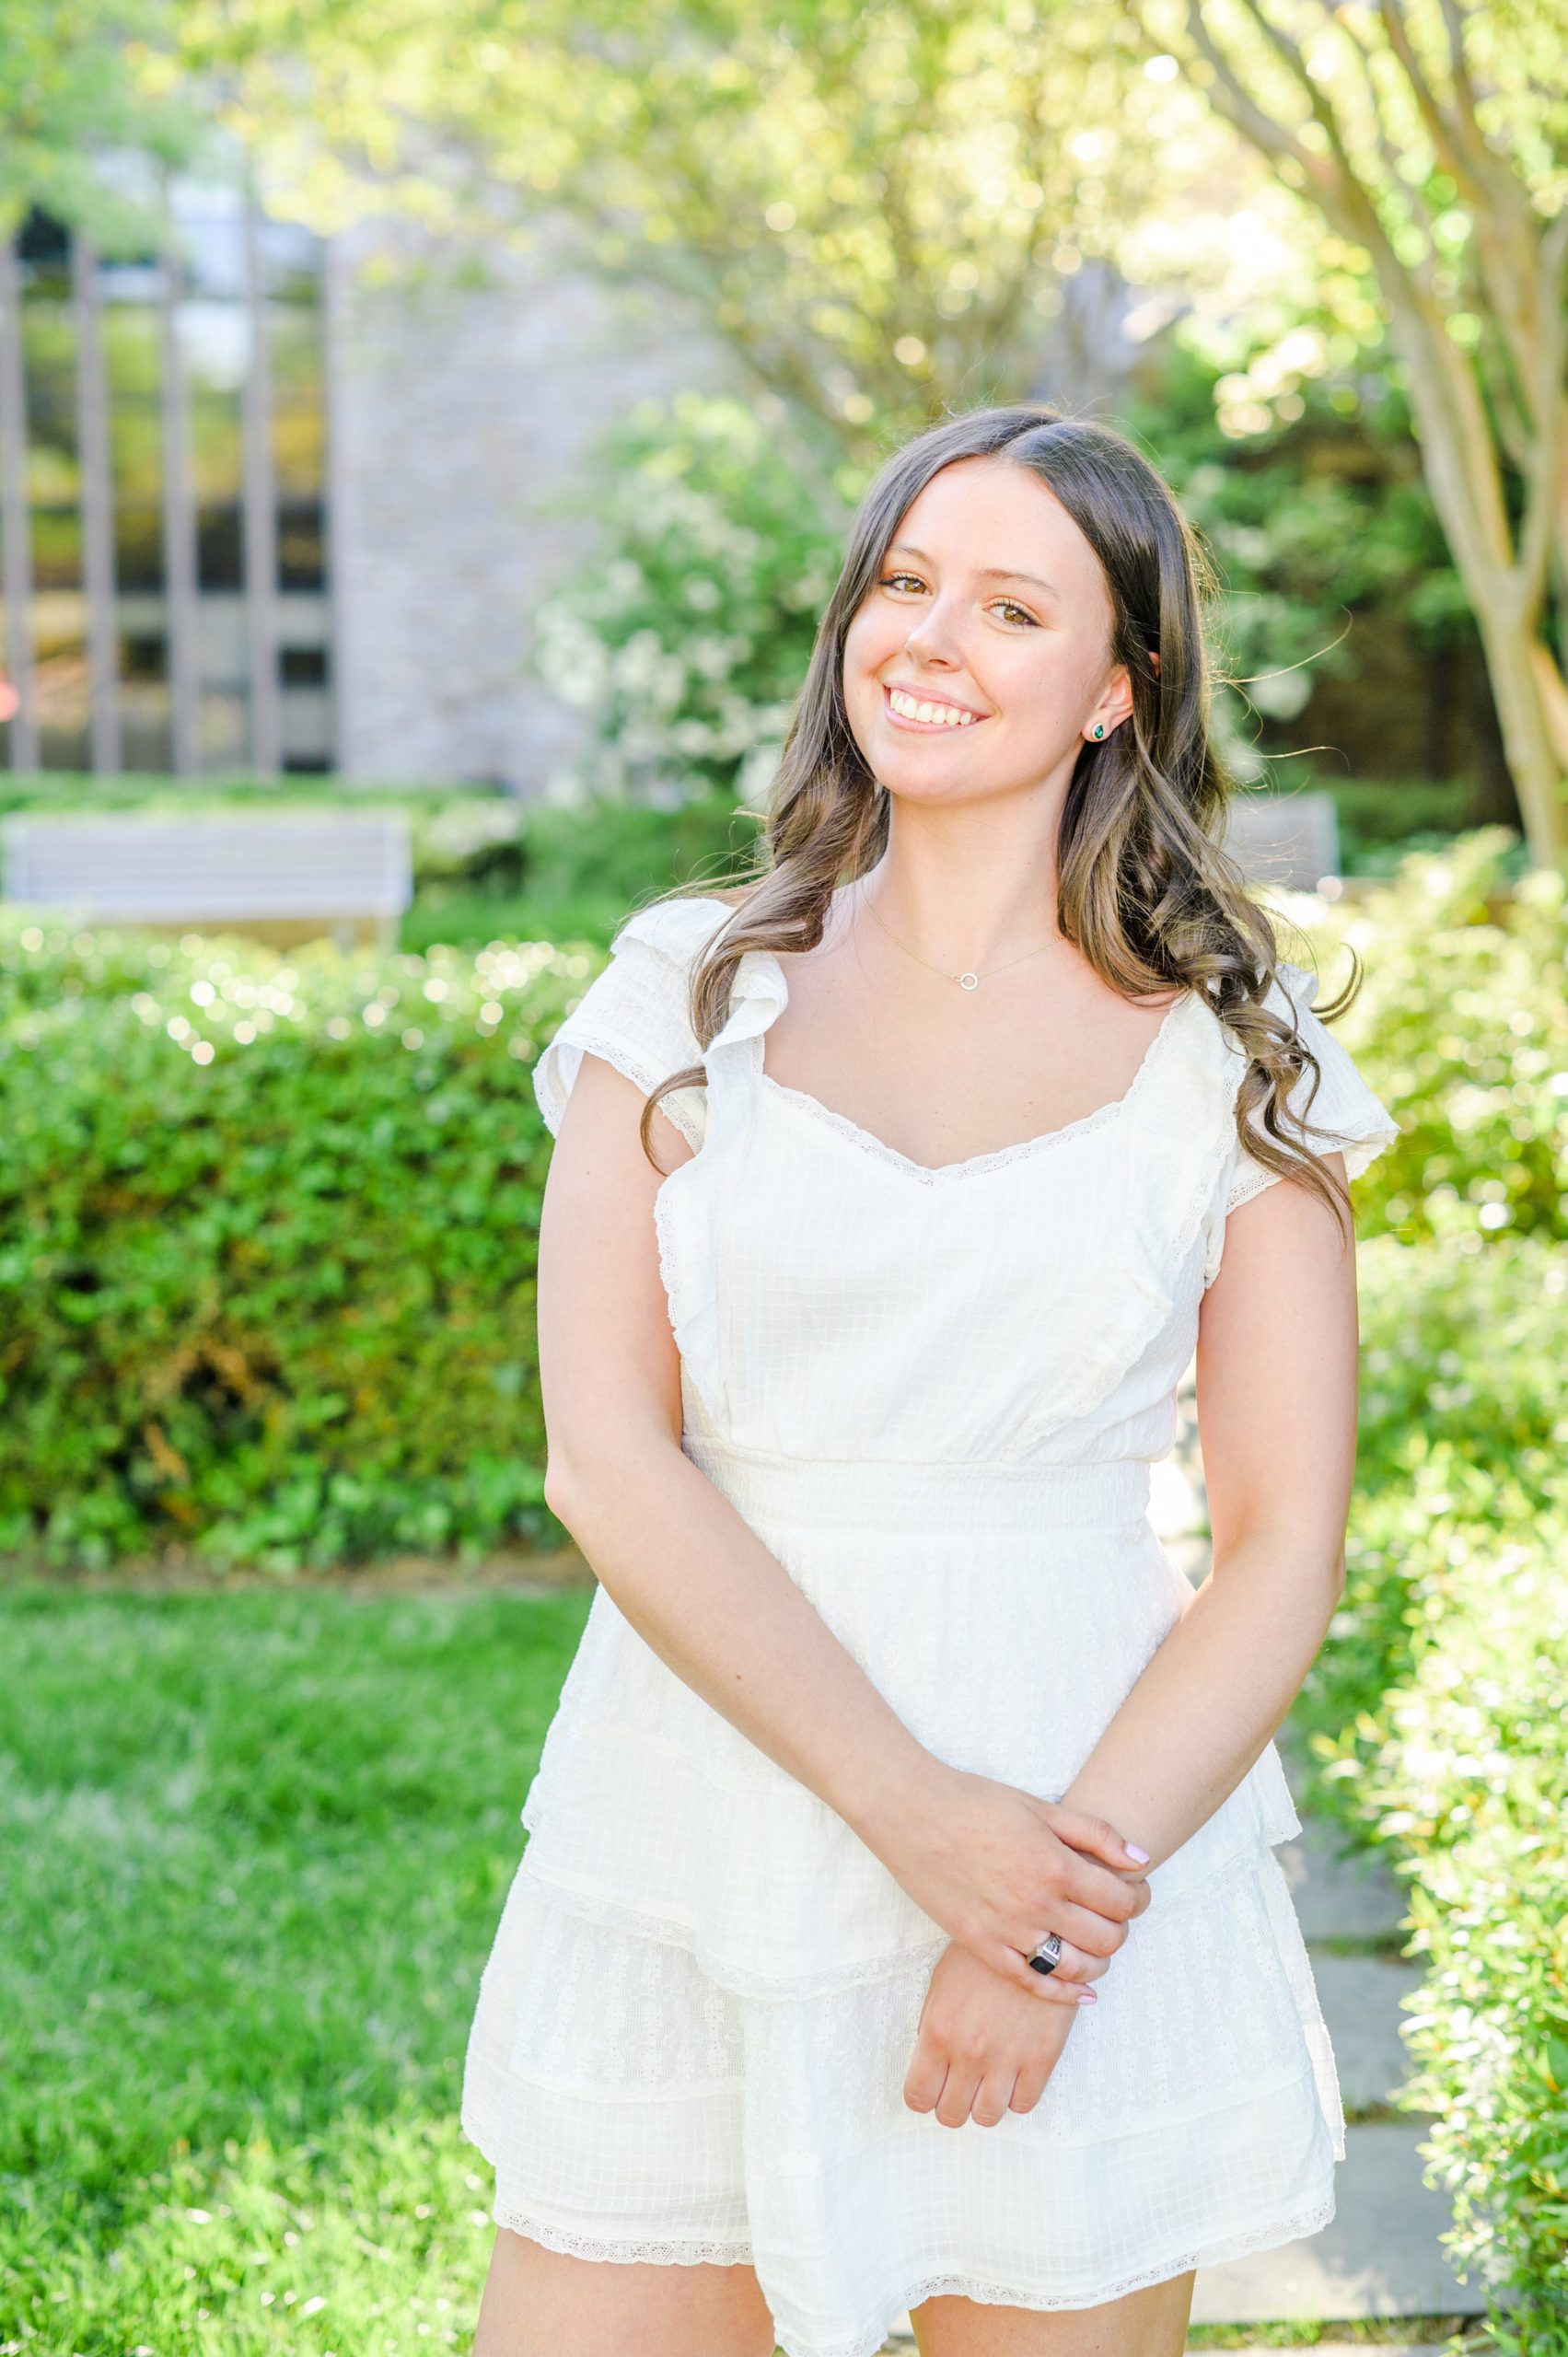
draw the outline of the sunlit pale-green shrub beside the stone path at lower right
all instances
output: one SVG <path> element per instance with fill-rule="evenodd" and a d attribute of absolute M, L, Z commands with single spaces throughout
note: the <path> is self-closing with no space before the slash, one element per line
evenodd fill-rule
<path fill-rule="evenodd" d="M 1405 2105 L 1455 2199 L 1455 2258 L 1509 2296 L 1493 2341 L 1568 2350 L 1568 1516 L 1455 1530 L 1412 1584 L 1412 1673 L 1363 1805 L 1412 1862 Z"/>

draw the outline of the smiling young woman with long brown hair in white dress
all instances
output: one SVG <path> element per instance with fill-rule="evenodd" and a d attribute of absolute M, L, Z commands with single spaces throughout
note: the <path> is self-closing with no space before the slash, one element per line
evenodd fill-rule
<path fill-rule="evenodd" d="M 766 874 L 538 1063 L 547 1499 L 599 1574 L 465 2131 L 476 2357 L 1179 2357 L 1335 2211 L 1271 1843 L 1394 1136 L 1217 849 L 1193 537 L 1115 431 L 870 488 Z M 1302 1127 L 1302 1117 L 1311 1127 Z M 1198 1351 L 1214 1567 L 1146 1518 Z"/>

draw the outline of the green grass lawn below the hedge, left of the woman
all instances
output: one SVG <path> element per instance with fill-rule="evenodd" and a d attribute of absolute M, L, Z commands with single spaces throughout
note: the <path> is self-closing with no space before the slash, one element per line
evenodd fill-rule
<path fill-rule="evenodd" d="M 469 2345 L 479 1970 L 587 1593 L 0 1593 L 0 2348 Z"/>

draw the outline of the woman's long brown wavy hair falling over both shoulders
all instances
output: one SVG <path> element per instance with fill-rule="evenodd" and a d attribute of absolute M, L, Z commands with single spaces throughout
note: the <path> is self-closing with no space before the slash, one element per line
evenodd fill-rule
<path fill-rule="evenodd" d="M 832 893 L 877 865 L 889 839 L 889 794 L 849 731 L 844 639 L 882 573 L 913 500 L 941 467 L 997 457 L 1028 467 L 1061 500 L 1099 556 L 1111 606 L 1111 662 L 1125 662 L 1132 712 L 1103 742 L 1085 740 L 1056 841 L 1056 922 L 1122 997 L 1172 985 L 1200 990 L 1247 1051 L 1236 1129 L 1266 1169 L 1342 1211 L 1349 1190 L 1297 1124 L 1287 1094 L 1318 1058 L 1297 1025 L 1264 1009 L 1278 969 L 1276 929 L 1221 849 L 1231 794 L 1210 742 L 1212 669 L 1205 601 L 1214 570 L 1155 467 L 1113 427 L 1035 403 L 943 420 L 896 450 L 861 500 L 849 554 L 828 599 L 806 681 L 795 698 L 783 759 L 757 841 L 759 872 L 691 973 L 691 1028 L 703 1047 L 724 1025 L 731 981 L 747 950 L 813 950 Z M 1151 662 L 1158 655 L 1158 669 Z M 705 886 L 705 896 L 714 889 Z M 1351 952 L 1346 990 L 1316 1014 L 1344 1014 L 1361 988 Z M 641 1143 L 663 1096 L 703 1084 L 703 1065 L 672 1072 L 644 1103 Z M 1252 1127 L 1259 1117 L 1261 1131 Z M 1325 1131 L 1320 1131 L 1325 1136 Z"/>

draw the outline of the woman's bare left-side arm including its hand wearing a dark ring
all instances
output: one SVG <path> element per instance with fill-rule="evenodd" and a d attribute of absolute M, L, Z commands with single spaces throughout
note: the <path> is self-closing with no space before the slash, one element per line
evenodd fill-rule
<path fill-rule="evenodd" d="M 1052 1803 L 936 1761 L 681 1452 L 653 1233 L 660 1174 L 639 1115 L 641 1089 L 585 1054 L 540 1221 L 545 1499 L 693 1692 L 844 1817 L 943 1928 L 1042 1992 L 1026 1954 L 1052 1919 L 1103 1954 L 1148 1904 L 1148 1883 L 1111 1827 L 1063 1808 L 1068 1846 Z M 663 1113 L 653 1143 L 665 1169 L 691 1153 Z"/>

